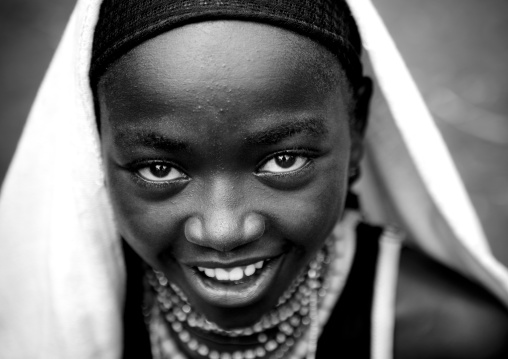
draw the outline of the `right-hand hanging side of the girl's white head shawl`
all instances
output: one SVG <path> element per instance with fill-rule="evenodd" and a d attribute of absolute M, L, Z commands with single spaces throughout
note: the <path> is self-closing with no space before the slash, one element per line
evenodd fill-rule
<path fill-rule="evenodd" d="M 383 192 L 375 196 L 390 202 L 381 205 L 382 210 L 394 211 L 420 247 L 484 283 L 508 305 L 506 267 L 490 253 L 443 138 L 400 53 L 370 0 L 348 3 L 390 111 L 374 112 L 370 119 L 366 162 L 377 179 L 371 187 L 377 188 L 368 192 Z"/>

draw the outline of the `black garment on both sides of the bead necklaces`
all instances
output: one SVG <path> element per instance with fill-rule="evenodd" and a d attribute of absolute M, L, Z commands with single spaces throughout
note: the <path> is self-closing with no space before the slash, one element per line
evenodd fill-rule
<path fill-rule="evenodd" d="M 371 313 L 380 227 L 357 227 L 356 252 L 349 277 L 318 342 L 317 359 L 367 359 L 371 348 Z M 124 312 L 124 359 L 150 359 L 150 342 L 143 322 L 143 265 L 124 243 L 127 299 Z"/>

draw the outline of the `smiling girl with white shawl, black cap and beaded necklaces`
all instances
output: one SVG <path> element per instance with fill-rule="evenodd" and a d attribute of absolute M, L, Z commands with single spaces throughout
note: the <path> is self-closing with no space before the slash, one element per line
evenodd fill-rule
<path fill-rule="evenodd" d="M 344 1 L 83 1 L 73 22 L 2 198 L 7 355 L 508 354 L 506 272 L 432 130 L 404 127 L 424 109 L 392 103 L 371 160 L 411 240 L 473 281 L 362 221 L 372 82 Z"/>

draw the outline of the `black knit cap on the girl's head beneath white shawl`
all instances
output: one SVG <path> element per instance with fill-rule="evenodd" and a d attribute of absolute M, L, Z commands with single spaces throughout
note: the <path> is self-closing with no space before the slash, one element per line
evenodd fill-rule
<path fill-rule="evenodd" d="M 199 21 L 262 22 L 307 36 L 335 54 L 354 86 L 362 76 L 361 39 L 345 0 L 104 0 L 95 28 L 90 80 L 132 48 Z"/>

